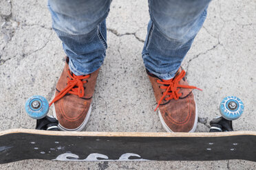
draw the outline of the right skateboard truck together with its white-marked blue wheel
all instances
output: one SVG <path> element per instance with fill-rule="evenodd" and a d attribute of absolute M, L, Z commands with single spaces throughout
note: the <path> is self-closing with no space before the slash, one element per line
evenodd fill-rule
<path fill-rule="evenodd" d="M 222 117 L 217 117 L 210 121 L 210 132 L 230 132 L 233 130 L 232 121 L 242 116 L 244 112 L 244 104 L 238 97 L 225 97 L 220 103 L 220 114 Z"/>

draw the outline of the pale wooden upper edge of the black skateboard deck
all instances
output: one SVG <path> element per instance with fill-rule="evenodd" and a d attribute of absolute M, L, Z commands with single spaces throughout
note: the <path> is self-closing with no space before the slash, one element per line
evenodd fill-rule
<path fill-rule="evenodd" d="M 116 136 L 116 137 L 220 137 L 220 136 L 237 136 L 237 135 L 253 135 L 255 131 L 236 131 L 236 132 L 60 132 L 47 130 L 30 130 L 30 129 L 10 129 L 0 132 L 0 136 L 5 134 L 29 133 L 52 136 Z"/>

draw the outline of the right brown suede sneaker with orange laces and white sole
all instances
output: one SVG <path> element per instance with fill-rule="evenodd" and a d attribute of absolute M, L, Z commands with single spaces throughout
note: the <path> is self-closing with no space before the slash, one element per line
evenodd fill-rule
<path fill-rule="evenodd" d="M 167 132 L 195 132 L 198 112 L 192 88 L 181 68 L 171 80 L 161 80 L 149 73 L 149 80 L 155 93 L 160 121 Z M 201 90 L 200 88 L 196 88 Z"/>

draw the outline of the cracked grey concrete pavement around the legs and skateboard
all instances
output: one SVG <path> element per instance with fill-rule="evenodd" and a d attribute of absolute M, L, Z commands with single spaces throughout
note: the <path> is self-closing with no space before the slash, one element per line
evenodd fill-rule
<path fill-rule="evenodd" d="M 54 95 L 64 66 L 61 40 L 51 29 L 47 1 L 0 0 L 0 130 L 31 128 L 25 100 Z M 98 75 L 86 131 L 164 132 L 142 63 L 149 20 L 147 1 L 114 0 L 107 18 L 107 58 Z M 198 102 L 197 132 L 209 131 L 220 101 L 236 95 L 245 104 L 235 130 L 256 130 L 256 1 L 215 0 L 182 65 Z M 52 114 L 52 110 L 50 110 Z M 0 169 L 256 169 L 256 162 L 151 161 L 56 162 L 23 160 Z"/>

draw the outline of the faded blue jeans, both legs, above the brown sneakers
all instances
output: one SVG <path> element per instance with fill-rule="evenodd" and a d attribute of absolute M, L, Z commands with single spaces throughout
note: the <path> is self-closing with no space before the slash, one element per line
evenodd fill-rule
<path fill-rule="evenodd" d="M 211 0 L 149 0 L 150 21 L 142 50 L 146 69 L 174 77 L 206 19 Z M 105 19 L 111 0 L 48 0 L 52 27 L 63 42 L 75 75 L 96 71 L 106 56 Z"/>

